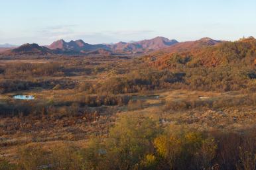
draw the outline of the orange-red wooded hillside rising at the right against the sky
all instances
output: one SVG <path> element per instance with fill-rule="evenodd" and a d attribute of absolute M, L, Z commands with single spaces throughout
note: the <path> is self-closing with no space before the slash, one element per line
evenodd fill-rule
<path fill-rule="evenodd" d="M 177 63 L 175 60 L 187 60 L 183 64 L 189 67 L 196 65 L 216 67 L 221 64 L 237 62 L 246 56 L 252 56 L 256 51 L 256 40 L 253 37 L 241 39 L 237 42 L 222 42 L 212 40 L 210 38 L 202 38 L 191 42 L 180 42 L 170 48 L 164 48 L 147 56 L 147 60 L 151 60 L 150 65 L 164 68 L 175 68 Z M 178 59 L 179 58 L 179 59 Z M 254 58 L 248 59 L 253 64 Z M 240 61 L 241 62 L 241 61 Z"/>

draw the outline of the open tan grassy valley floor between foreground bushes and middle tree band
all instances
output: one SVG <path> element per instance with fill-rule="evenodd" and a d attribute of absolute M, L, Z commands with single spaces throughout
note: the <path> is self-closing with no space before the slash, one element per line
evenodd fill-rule
<path fill-rule="evenodd" d="M 24 92 L 23 92 L 24 93 Z M 38 91 L 37 91 L 38 93 Z M 61 97 L 61 94 L 74 91 L 40 91 L 38 100 L 48 100 L 47 96 Z M 29 94 L 36 95 L 34 92 Z M 4 98 L 8 98 L 7 94 Z M 255 127 L 256 106 L 198 106 L 186 109 L 169 108 L 168 103 L 184 101 L 218 101 L 220 99 L 237 99 L 246 97 L 241 92 L 204 92 L 204 91 L 155 91 L 146 95 L 133 94 L 133 99 L 141 101 L 126 106 L 99 106 L 87 108 L 88 113 L 69 115 L 29 115 L 1 118 L 0 121 L 0 154 L 15 161 L 17 149 L 27 144 L 42 144 L 48 146 L 58 142 L 71 142 L 82 147 L 94 136 L 107 137 L 109 128 L 116 118 L 122 114 L 143 114 L 157 120 L 162 127 L 182 126 L 184 128 L 204 131 L 243 132 Z M 63 99 L 63 98 L 61 98 Z M 104 110 L 101 114 L 93 115 L 93 110 Z"/>

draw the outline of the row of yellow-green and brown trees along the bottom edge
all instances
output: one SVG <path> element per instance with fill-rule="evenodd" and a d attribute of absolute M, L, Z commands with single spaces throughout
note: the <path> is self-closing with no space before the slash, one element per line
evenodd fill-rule
<path fill-rule="evenodd" d="M 129 114 L 117 120 L 108 138 L 94 138 L 86 148 L 31 144 L 19 149 L 17 163 L 1 161 L 0 169 L 254 170 L 255 132 L 196 132 L 178 126 L 162 130 L 151 118 Z"/>

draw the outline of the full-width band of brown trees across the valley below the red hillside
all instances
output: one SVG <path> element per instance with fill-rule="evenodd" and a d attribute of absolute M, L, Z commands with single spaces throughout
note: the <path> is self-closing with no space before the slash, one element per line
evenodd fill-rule
<path fill-rule="evenodd" d="M 0 93 L 43 89 L 78 89 L 99 95 L 139 93 L 158 89 L 190 89 L 200 91 L 238 91 L 246 89 L 255 92 L 255 71 L 235 67 L 199 67 L 180 71 L 143 69 L 133 73 L 117 75 L 103 83 L 79 83 L 60 80 L 0 79 Z"/>

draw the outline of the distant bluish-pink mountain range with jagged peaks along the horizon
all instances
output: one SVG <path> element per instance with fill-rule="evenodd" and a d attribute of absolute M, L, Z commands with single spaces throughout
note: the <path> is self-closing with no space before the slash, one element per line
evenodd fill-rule
<path fill-rule="evenodd" d="M 116 44 L 88 44 L 83 40 L 57 40 L 49 46 L 39 46 L 38 44 L 23 44 L 18 48 L 11 48 L 2 52 L 9 55 L 25 54 L 145 54 L 147 52 L 166 50 L 182 51 L 201 46 L 213 46 L 222 41 L 212 40 L 211 38 L 202 38 L 196 41 L 178 42 L 158 36 L 150 40 L 141 40 L 138 42 L 118 42 Z"/>

